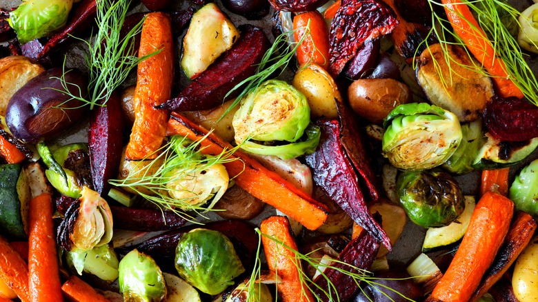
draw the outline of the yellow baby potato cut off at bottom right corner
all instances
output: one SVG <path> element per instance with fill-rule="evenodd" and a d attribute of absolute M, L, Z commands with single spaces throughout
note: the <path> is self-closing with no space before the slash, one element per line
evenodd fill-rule
<path fill-rule="evenodd" d="M 517 258 L 512 288 L 518 301 L 538 301 L 538 236 L 531 239 Z"/>

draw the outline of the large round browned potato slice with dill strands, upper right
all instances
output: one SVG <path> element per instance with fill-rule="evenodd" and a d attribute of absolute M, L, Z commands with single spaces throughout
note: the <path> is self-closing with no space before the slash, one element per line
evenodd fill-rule
<path fill-rule="evenodd" d="M 420 55 L 417 80 L 432 104 L 456 114 L 461 122 L 475 121 L 493 96 L 490 77 L 479 69 L 464 48 L 435 44 Z"/>

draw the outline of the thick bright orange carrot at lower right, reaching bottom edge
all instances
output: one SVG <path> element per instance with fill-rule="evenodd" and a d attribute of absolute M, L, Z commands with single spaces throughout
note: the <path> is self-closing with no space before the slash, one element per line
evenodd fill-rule
<path fill-rule="evenodd" d="M 513 211 L 510 199 L 484 194 L 454 259 L 426 301 L 469 301 L 508 233 Z"/>

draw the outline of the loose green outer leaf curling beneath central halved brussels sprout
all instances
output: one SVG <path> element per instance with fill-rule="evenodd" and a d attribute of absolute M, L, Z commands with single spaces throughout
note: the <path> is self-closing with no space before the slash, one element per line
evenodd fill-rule
<path fill-rule="evenodd" d="M 286 145 L 261 145 L 252 141 L 245 141 L 241 148 L 247 152 L 261 155 L 275 155 L 283 160 L 295 159 L 304 154 L 315 152 L 321 132 L 317 125 L 310 123 L 305 130 L 306 139 L 288 143 Z"/>

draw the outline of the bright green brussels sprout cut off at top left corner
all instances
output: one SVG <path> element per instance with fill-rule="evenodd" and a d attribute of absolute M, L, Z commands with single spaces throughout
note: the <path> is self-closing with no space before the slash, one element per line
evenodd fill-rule
<path fill-rule="evenodd" d="M 46 37 L 66 25 L 73 0 L 27 0 L 10 12 L 8 22 L 21 44 Z"/>

